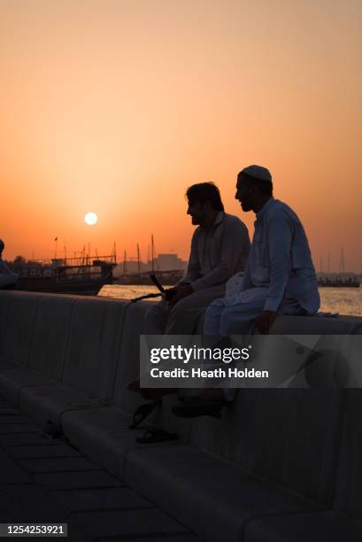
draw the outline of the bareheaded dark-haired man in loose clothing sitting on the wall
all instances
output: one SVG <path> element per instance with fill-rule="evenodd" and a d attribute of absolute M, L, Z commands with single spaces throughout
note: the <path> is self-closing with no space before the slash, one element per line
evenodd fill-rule
<path fill-rule="evenodd" d="M 150 306 L 145 316 L 145 335 L 190 335 L 214 299 L 225 295 L 227 280 L 242 271 L 249 257 L 248 228 L 236 216 L 224 212 L 220 191 L 212 182 L 201 182 L 186 192 L 188 211 L 197 226 L 191 241 L 186 275 Z M 167 297 L 168 298 L 168 297 Z M 162 396 L 160 389 L 142 389 L 139 381 L 128 389 L 145 399 Z M 166 392 L 166 390 L 165 390 Z"/>

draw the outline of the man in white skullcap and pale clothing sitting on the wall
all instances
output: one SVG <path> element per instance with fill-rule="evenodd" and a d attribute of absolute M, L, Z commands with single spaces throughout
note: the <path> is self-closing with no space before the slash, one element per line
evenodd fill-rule
<path fill-rule="evenodd" d="M 267 334 L 277 314 L 312 314 L 320 294 L 304 228 L 290 207 L 273 197 L 266 167 L 248 166 L 237 176 L 235 198 L 257 215 L 250 258 L 240 292 L 209 306 L 206 335 Z"/>

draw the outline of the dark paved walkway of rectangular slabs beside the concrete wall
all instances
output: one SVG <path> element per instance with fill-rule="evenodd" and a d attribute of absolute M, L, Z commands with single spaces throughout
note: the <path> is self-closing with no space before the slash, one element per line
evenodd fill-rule
<path fill-rule="evenodd" d="M 68 523 L 65 539 L 77 542 L 200 540 L 73 446 L 41 433 L 0 397 L 1 523 Z"/>

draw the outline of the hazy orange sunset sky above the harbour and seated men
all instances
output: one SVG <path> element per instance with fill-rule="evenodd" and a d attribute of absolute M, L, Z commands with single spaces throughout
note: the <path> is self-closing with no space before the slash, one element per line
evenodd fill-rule
<path fill-rule="evenodd" d="M 362 262 L 361 0 L 0 0 L 5 259 L 186 258 L 184 192 L 269 167 L 316 267 Z M 97 213 L 89 227 L 84 215 Z M 60 254 L 58 254 L 60 255 Z"/>

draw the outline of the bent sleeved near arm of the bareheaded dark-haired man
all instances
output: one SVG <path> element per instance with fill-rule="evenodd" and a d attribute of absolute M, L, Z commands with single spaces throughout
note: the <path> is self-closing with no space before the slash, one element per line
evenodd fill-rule
<path fill-rule="evenodd" d="M 240 221 L 227 221 L 222 237 L 219 266 L 191 283 L 192 289 L 204 290 L 216 284 L 226 283 L 231 276 L 235 275 L 240 259 L 244 259 L 246 265 L 249 251 L 250 239 L 246 226 Z"/>

